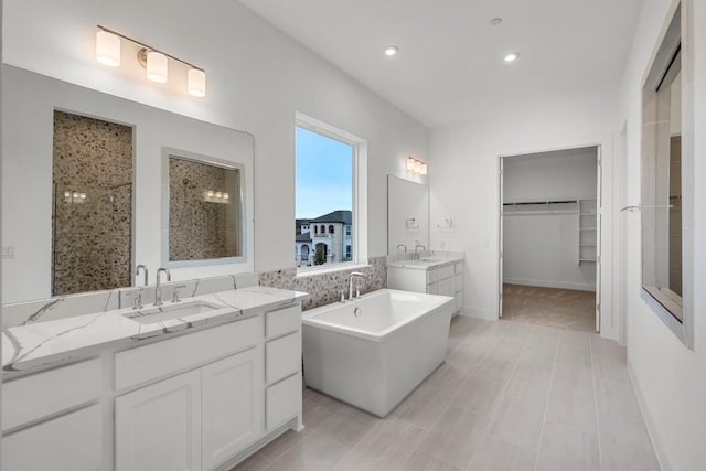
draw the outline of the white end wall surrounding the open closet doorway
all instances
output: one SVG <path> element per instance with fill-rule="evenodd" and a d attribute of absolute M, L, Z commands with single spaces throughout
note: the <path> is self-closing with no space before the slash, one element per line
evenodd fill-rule
<path fill-rule="evenodd" d="M 617 94 L 617 92 L 616 92 Z M 617 95 L 616 95 L 617 96 Z M 463 313 L 498 318 L 499 281 L 499 156 L 576 147 L 601 147 L 603 169 L 612 162 L 616 96 L 557 95 L 507 104 L 482 121 L 436 129 L 431 133 L 431 246 L 466 251 Z M 611 207 L 611 173 L 603 170 L 603 207 Z M 603 211 L 601 295 L 611 299 L 611 215 Z M 452 217 L 453 231 L 436 228 Z M 614 338 L 619 320 L 610 302 L 603 304 L 601 334 Z"/>

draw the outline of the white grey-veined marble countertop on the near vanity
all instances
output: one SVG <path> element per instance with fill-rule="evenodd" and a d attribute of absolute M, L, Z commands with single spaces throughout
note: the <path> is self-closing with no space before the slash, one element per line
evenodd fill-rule
<path fill-rule="evenodd" d="M 186 329 L 227 323 L 254 315 L 258 310 L 289 304 L 308 295 L 268 287 L 238 288 L 229 291 L 185 298 L 182 303 L 204 301 L 217 309 L 183 318 L 140 323 L 129 317 L 142 310 L 119 309 L 76 315 L 45 322 L 25 323 L 2 331 L 2 373 L 26 371 L 40 366 L 79 360 L 107 347 L 121 347 L 146 339 Z M 171 302 L 164 302 L 169 308 Z"/>

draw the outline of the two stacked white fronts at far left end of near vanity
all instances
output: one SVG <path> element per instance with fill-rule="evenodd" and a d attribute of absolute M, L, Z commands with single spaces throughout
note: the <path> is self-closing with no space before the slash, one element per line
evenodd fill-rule
<path fill-rule="evenodd" d="M 100 393 L 97 358 L 3 383 L 0 468 L 101 469 Z"/>

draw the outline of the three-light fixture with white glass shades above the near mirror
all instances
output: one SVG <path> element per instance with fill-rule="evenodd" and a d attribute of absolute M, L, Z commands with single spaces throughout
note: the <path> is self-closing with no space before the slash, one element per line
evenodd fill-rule
<path fill-rule="evenodd" d="M 98 24 L 96 33 L 96 61 L 100 64 L 118 67 L 120 65 L 120 40 L 127 40 L 141 46 L 137 53 L 137 62 L 147 71 L 147 78 L 158 84 L 163 84 L 169 79 L 169 60 L 179 62 L 190 67 L 186 75 L 189 95 L 195 97 L 206 96 L 206 73 L 193 64 L 182 61 L 179 57 L 167 54 L 145 43 L 128 38 L 116 31 L 109 30 Z"/>

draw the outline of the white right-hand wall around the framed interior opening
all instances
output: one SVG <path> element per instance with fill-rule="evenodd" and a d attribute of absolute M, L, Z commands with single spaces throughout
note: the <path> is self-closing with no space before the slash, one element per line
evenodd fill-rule
<path fill-rule="evenodd" d="M 633 42 L 621 93 L 620 122 L 627 122 L 625 178 L 622 181 L 630 204 L 640 201 L 641 88 L 661 32 L 675 8 L 672 0 L 645 1 Z M 685 45 L 694 71 L 682 78 L 694 93 L 694 347 L 688 350 L 662 323 L 655 309 L 641 295 L 640 216 L 624 213 L 624 285 L 628 307 L 628 361 L 642 398 L 657 454 L 665 470 L 697 470 L 706 463 L 706 2 L 685 0 L 691 10 L 687 25 L 693 34 Z M 683 53 L 684 55 L 684 53 Z M 688 222 L 685 222 L 688 225 Z M 621 224 L 622 225 L 622 224 Z"/>

